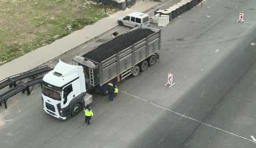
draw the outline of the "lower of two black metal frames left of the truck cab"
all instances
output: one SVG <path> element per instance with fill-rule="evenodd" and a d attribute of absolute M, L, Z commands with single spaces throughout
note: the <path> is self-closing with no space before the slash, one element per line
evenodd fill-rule
<path fill-rule="evenodd" d="M 36 78 L 36 79 L 33 79 L 33 80 L 29 80 L 29 81 L 27 81 L 26 83 L 23 83 L 23 84 L 21 84 L 21 85 L 18 85 L 18 86 L 16 86 L 16 87 L 12 88 L 11 90 L 9 90 L 9 91 L 7 91 L 7 92 L 1 94 L 1 95 L 0 95 L 0 106 L 2 106 L 2 103 L 3 103 L 3 104 L 4 104 L 4 107 L 5 107 L 5 109 L 6 109 L 6 108 L 7 108 L 7 105 L 6 105 L 7 100 L 8 100 L 10 97 L 12 97 L 12 96 L 18 94 L 19 92 L 22 92 L 22 94 L 23 94 L 23 93 L 25 93 L 25 91 L 26 91 L 27 96 L 30 95 L 30 93 L 31 93 L 31 91 L 32 91 L 32 89 L 33 89 L 33 87 L 34 87 L 34 85 L 40 84 L 41 81 L 42 81 L 42 78 L 43 78 L 43 77 L 39 77 L 39 78 Z M 30 87 L 30 86 L 32 86 L 31 90 L 29 90 L 29 87 Z"/>

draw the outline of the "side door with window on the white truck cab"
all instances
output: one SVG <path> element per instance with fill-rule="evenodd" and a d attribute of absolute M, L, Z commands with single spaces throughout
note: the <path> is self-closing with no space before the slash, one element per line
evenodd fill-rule
<path fill-rule="evenodd" d="M 61 99 L 61 108 L 68 106 L 69 102 L 75 97 L 72 84 L 63 88 L 63 99 Z"/>

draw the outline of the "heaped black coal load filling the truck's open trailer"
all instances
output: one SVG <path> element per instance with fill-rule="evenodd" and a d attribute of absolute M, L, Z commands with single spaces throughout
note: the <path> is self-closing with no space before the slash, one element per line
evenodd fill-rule
<path fill-rule="evenodd" d="M 111 41 L 99 45 L 97 48 L 83 55 L 83 57 L 98 63 L 102 62 L 153 33 L 154 32 L 150 29 L 136 29 L 127 32 L 125 34 L 116 36 Z"/>

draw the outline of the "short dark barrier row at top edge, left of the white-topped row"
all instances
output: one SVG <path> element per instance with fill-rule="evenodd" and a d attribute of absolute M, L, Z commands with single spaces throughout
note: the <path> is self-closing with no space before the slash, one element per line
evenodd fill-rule
<path fill-rule="evenodd" d="M 131 5 L 135 3 L 135 0 L 94 0 L 97 3 L 101 3 L 102 5 L 116 7 L 121 10 L 125 10 L 127 5 Z"/>

